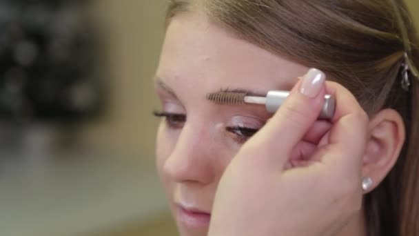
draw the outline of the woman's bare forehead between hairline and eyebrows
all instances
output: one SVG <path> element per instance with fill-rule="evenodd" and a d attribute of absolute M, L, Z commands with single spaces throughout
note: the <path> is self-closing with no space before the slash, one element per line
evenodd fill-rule
<path fill-rule="evenodd" d="M 172 87 L 267 91 L 291 88 L 307 69 L 234 37 L 202 14 L 181 14 L 167 28 L 157 75 Z"/>

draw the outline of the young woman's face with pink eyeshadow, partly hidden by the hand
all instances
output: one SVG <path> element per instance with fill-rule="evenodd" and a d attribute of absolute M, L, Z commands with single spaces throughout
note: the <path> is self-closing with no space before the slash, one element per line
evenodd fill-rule
<path fill-rule="evenodd" d="M 158 115 L 165 117 L 156 155 L 181 235 L 207 235 L 223 171 L 270 117 L 264 106 L 217 105 L 206 95 L 220 90 L 290 90 L 307 70 L 238 39 L 202 14 L 174 17 L 156 72 Z"/>

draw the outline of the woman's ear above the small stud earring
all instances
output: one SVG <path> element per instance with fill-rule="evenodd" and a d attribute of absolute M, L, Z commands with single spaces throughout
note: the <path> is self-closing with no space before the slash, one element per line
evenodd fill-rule
<path fill-rule="evenodd" d="M 369 122 L 369 140 L 362 164 L 362 177 L 371 178 L 371 191 L 386 177 L 405 143 L 405 124 L 396 110 L 380 110 Z"/>

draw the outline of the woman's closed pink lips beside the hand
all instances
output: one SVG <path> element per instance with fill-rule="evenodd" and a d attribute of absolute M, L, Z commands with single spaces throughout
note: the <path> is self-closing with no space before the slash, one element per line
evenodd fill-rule
<path fill-rule="evenodd" d="M 176 205 L 179 222 L 191 228 L 203 228 L 210 226 L 211 214 L 196 208 L 184 208 Z"/>

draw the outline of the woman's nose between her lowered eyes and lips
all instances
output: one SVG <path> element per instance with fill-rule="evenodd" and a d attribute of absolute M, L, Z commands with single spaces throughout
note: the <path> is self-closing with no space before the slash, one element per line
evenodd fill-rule
<path fill-rule="evenodd" d="M 165 175 L 176 182 L 210 184 L 214 179 L 214 155 L 205 128 L 185 124 L 163 166 Z"/>

